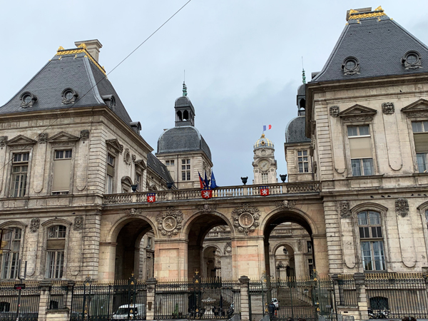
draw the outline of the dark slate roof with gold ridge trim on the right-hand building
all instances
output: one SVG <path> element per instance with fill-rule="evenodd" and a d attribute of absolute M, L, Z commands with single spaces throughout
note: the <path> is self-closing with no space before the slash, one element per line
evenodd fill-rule
<path fill-rule="evenodd" d="M 375 15 L 372 14 L 374 11 L 370 12 L 360 14 L 362 19 L 356 19 L 359 14 L 353 18 L 351 15 L 327 63 L 312 78 L 312 83 L 428 71 L 428 47 L 387 15 L 364 18 Z M 376 12 L 383 14 L 382 9 Z M 411 50 L 421 55 L 422 68 L 404 68 L 401 59 Z M 341 67 L 345 58 L 350 56 L 360 62 L 360 73 L 352 76 L 345 75 Z"/>

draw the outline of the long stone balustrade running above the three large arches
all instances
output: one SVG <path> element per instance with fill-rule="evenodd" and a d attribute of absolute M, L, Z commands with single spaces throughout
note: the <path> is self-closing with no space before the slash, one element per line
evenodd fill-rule
<path fill-rule="evenodd" d="M 215 188 L 213 198 L 245 198 L 247 196 L 266 198 L 260 195 L 260 187 L 268 186 L 269 195 L 290 195 L 297 193 L 319 193 L 320 182 L 275 183 L 266 185 L 238 185 Z M 136 192 L 104 195 L 103 204 L 148 203 L 147 194 L 156 193 L 156 202 L 168 200 L 203 200 L 199 188 L 183 190 L 159 190 L 156 192 Z M 267 196 L 269 197 L 269 196 Z"/>

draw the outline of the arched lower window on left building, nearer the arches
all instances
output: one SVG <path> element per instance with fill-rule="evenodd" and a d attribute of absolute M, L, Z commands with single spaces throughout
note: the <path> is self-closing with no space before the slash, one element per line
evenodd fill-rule
<path fill-rule="evenodd" d="M 63 225 L 54 225 L 48 228 L 48 240 L 46 243 L 46 278 L 60 279 L 63 277 L 66 232 L 67 228 Z"/>

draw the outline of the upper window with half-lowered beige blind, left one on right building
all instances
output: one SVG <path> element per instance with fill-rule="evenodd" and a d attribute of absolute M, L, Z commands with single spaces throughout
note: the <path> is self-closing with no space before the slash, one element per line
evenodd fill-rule
<path fill-rule="evenodd" d="M 374 175 L 369 126 L 347 126 L 347 133 L 352 176 Z"/>

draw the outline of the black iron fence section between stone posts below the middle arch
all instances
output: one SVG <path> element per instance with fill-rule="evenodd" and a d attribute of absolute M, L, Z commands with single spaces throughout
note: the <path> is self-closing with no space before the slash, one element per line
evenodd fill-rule
<path fill-rule="evenodd" d="M 156 319 L 230 319 L 240 315 L 240 283 L 220 278 L 158 282 Z"/>

